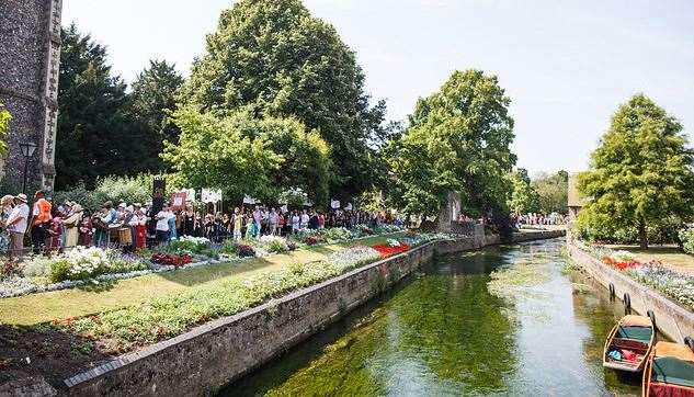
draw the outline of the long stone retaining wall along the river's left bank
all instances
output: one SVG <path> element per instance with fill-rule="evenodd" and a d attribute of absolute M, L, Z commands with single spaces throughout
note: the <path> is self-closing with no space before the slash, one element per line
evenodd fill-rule
<path fill-rule="evenodd" d="M 514 240 L 562 235 L 562 230 L 516 234 Z M 118 356 L 67 378 L 58 393 L 76 396 L 213 393 L 388 290 L 439 250 L 465 251 L 494 243 L 499 243 L 498 237 L 477 235 L 418 247 Z M 29 390 L 35 385 L 24 386 Z"/>

